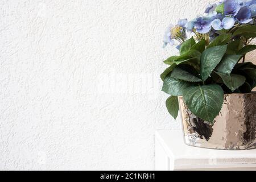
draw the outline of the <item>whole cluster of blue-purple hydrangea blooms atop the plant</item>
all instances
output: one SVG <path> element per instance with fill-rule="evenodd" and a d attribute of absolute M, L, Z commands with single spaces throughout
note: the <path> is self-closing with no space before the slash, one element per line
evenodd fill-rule
<path fill-rule="evenodd" d="M 217 3 L 209 3 L 204 15 L 189 22 L 187 19 L 181 19 L 176 26 L 169 26 L 164 34 L 164 46 L 174 45 L 174 40 L 184 40 L 186 37 L 184 33 L 177 34 L 174 28 L 195 34 L 210 35 L 214 31 L 230 30 L 235 24 L 251 23 L 255 17 L 256 0 L 220 0 Z"/>

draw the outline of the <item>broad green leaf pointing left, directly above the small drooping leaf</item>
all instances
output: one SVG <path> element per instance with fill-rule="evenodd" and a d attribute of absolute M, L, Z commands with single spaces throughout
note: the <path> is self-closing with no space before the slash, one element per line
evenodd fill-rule
<path fill-rule="evenodd" d="M 172 78 L 168 75 L 164 79 L 162 91 L 171 96 L 182 96 L 184 89 L 191 85 L 193 85 L 191 82 Z"/>

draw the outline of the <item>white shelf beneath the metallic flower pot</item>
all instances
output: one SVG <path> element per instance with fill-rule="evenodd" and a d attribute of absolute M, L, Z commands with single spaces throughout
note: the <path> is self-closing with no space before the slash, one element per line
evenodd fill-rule
<path fill-rule="evenodd" d="M 256 170 L 256 150 L 213 150 L 187 146 L 181 130 L 155 133 L 156 170 Z"/>

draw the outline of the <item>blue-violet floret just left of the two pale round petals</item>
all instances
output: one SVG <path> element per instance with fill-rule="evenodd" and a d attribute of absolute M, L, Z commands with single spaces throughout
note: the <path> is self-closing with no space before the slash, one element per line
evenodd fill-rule
<path fill-rule="evenodd" d="M 193 26 L 193 28 L 195 28 L 196 31 L 199 32 L 200 34 L 208 33 L 212 28 L 211 25 L 212 25 L 211 18 L 203 18 L 201 16 L 196 18 L 195 22 L 191 22 L 191 24 L 189 24 L 189 26 Z"/>

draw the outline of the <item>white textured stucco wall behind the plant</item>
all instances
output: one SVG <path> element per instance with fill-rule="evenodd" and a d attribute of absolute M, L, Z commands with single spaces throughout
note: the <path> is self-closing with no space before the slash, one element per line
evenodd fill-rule
<path fill-rule="evenodd" d="M 0 169 L 154 169 L 163 32 L 208 2 L 1 0 Z"/>

